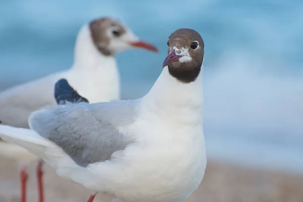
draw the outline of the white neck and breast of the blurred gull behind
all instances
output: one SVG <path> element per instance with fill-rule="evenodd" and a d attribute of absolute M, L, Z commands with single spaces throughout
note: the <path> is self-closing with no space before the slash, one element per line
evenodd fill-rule
<path fill-rule="evenodd" d="M 90 103 L 120 98 L 120 74 L 114 56 L 95 47 L 88 24 L 82 26 L 75 44 L 74 64 L 68 81 Z"/>

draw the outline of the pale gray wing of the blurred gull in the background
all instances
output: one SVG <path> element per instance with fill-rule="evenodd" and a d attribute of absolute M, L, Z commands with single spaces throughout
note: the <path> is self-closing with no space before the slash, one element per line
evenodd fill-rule
<path fill-rule="evenodd" d="M 64 76 L 62 74 L 48 75 L 1 92 L 0 121 L 5 125 L 28 128 L 27 120 L 33 111 L 56 104 L 54 84 Z"/>

